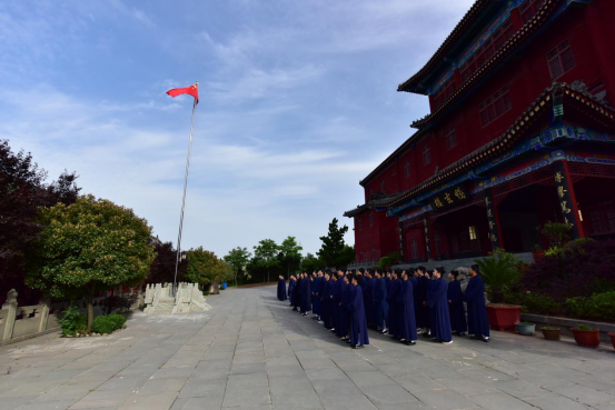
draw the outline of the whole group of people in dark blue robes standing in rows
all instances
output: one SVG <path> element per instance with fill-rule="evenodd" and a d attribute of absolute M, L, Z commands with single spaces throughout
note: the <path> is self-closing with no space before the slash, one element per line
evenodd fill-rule
<path fill-rule="evenodd" d="M 458 271 L 426 270 L 320 270 L 279 277 L 278 299 L 290 299 L 292 311 L 311 318 L 353 349 L 369 344 L 368 329 L 413 346 L 418 334 L 440 343 L 453 343 L 453 334 L 470 334 L 489 341 L 485 308 L 485 283 L 479 268 L 468 268 L 465 293 Z M 288 297 L 288 298 L 287 298 Z M 467 304 L 467 320 L 466 309 Z"/>

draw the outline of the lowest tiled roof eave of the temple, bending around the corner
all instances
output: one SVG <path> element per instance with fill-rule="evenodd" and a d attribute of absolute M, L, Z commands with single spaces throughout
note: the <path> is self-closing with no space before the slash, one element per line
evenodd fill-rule
<path fill-rule="evenodd" d="M 615 109 L 596 100 L 582 87 L 573 88 L 564 83 L 555 83 L 538 96 L 500 137 L 444 168 L 419 186 L 403 192 L 398 199 L 389 203 L 389 207 L 398 207 L 410 198 L 429 192 L 429 190 L 436 189 L 453 178 L 458 178 L 463 173 L 470 172 L 479 163 L 494 160 L 510 149 L 539 118 L 548 113 L 553 113 L 556 118 L 563 117 L 564 110 L 568 107 L 583 112 L 603 128 L 615 130 Z"/>

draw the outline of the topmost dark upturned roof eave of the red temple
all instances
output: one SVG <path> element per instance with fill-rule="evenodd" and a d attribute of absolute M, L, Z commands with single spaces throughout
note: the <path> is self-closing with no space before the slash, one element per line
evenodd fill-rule
<path fill-rule="evenodd" d="M 429 59 L 429 61 L 427 61 L 427 63 L 416 74 L 414 74 L 408 80 L 399 84 L 399 87 L 397 88 L 397 91 L 426 94 L 424 92 L 416 91 L 415 90 L 416 86 L 418 86 L 420 81 L 426 77 L 426 74 L 430 73 L 430 71 L 435 68 L 435 66 L 445 58 L 446 53 L 450 50 L 450 48 L 457 43 L 460 36 L 474 23 L 474 21 L 478 18 L 478 16 L 480 16 L 480 13 L 485 10 L 485 8 L 489 4 L 490 1 L 492 0 L 476 0 L 476 2 L 462 18 L 462 21 L 457 23 L 455 29 L 453 29 L 450 34 L 448 34 L 446 40 L 444 40 L 442 46 L 438 48 L 436 53 Z"/>

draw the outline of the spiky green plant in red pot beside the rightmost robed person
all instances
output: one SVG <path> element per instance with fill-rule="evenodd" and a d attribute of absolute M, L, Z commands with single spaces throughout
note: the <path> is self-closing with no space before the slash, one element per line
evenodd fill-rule
<path fill-rule="evenodd" d="M 519 259 L 497 249 L 488 257 L 477 259 L 480 277 L 485 281 L 490 303 L 487 304 L 487 320 L 496 330 L 515 330 L 515 323 L 520 322 L 522 307 L 504 303 L 504 290 L 518 278 Z"/>

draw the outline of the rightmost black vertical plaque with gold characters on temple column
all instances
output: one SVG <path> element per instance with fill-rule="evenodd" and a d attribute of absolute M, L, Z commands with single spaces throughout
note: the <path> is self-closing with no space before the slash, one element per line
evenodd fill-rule
<path fill-rule="evenodd" d="M 559 208 L 562 210 L 562 219 L 564 223 L 571 227 L 571 238 L 585 238 L 583 223 L 578 213 L 575 189 L 568 171 L 568 161 L 555 161 L 553 163 L 553 172 L 555 176 L 557 199 L 559 200 Z"/>

